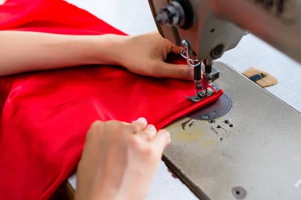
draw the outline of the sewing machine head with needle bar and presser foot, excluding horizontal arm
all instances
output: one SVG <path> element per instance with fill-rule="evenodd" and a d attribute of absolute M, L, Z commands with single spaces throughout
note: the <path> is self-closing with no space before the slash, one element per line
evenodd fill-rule
<path fill-rule="evenodd" d="M 183 46 L 182 56 L 194 68 L 196 95 L 200 101 L 213 93 L 207 85 L 219 77 L 212 65 L 223 53 L 234 48 L 245 30 L 215 15 L 210 0 L 148 0 L 160 34 Z M 201 64 L 205 65 L 201 78 Z M 202 82 L 201 82 L 202 81 Z"/>

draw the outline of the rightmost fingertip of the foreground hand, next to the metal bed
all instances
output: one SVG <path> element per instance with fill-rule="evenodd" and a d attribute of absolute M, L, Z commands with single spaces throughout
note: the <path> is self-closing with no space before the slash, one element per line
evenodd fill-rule
<path fill-rule="evenodd" d="M 165 129 L 159 130 L 151 142 L 155 146 L 157 153 L 162 155 L 165 147 L 171 142 L 171 135 Z"/>

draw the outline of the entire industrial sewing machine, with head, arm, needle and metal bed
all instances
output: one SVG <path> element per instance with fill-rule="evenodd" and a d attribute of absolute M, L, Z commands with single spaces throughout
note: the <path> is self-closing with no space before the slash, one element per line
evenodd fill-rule
<path fill-rule="evenodd" d="M 201 199 L 301 199 L 301 114 L 214 62 L 247 31 L 301 62 L 301 1 L 148 2 L 161 35 L 183 46 L 181 55 L 193 69 L 195 95 L 186 97 L 198 102 L 212 88 L 225 91 L 166 127 L 172 135 L 166 164 Z"/>

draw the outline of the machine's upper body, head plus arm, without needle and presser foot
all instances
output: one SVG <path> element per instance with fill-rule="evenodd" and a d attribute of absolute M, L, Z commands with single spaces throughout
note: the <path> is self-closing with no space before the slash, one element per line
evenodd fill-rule
<path fill-rule="evenodd" d="M 300 0 L 148 1 L 162 36 L 186 40 L 199 60 L 221 57 L 247 30 L 301 62 Z"/>

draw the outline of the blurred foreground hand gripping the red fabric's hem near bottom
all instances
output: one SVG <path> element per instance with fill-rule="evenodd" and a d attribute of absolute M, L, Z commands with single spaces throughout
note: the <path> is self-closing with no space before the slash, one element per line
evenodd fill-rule
<path fill-rule="evenodd" d="M 142 200 L 159 167 L 170 134 L 147 125 L 96 121 L 86 136 L 75 199 Z"/>

